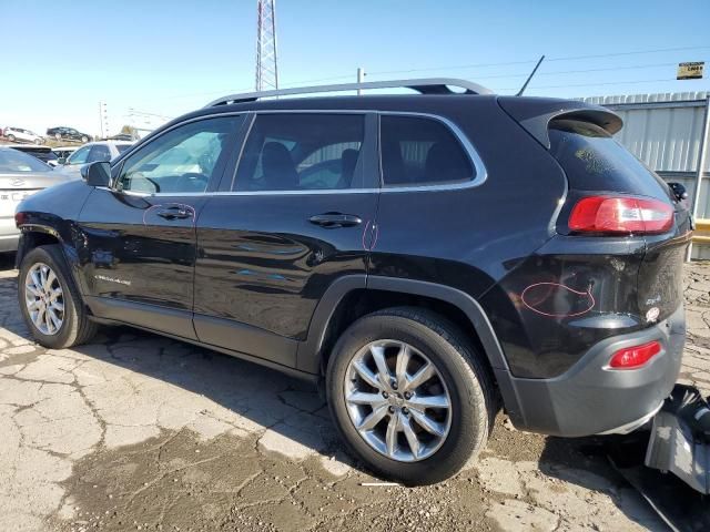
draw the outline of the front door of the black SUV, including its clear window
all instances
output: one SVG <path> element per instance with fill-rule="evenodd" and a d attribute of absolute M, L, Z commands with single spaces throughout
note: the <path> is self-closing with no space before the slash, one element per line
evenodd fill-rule
<path fill-rule="evenodd" d="M 221 116 L 168 130 L 120 163 L 110 190 L 92 192 L 79 218 L 79 253 L 95 315 L 195 337 L 195 219 L 241 121 Z"/>

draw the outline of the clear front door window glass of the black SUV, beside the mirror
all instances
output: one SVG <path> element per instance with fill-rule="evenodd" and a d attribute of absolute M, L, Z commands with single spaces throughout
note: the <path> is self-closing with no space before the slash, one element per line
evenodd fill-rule
<path fill-rule="evenodd" d="M 206 119 L 159 136 L 125 160 L 116 182 L 121 191 L 204 192 L 241 116 Z"/>

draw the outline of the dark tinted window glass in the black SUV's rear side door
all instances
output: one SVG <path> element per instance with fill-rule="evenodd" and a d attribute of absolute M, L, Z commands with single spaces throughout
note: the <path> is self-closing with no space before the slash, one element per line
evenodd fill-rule
<path fill-rule="evenodd" d="M 365 116 L 257 115 L 233 184 L 236 191 L 362 188 Z"/>

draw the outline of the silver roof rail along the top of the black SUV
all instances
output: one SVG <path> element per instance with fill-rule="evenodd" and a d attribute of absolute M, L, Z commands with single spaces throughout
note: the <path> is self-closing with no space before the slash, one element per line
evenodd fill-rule
<path fill-rule="evenodd" d="M 368 89 L 412 89 L 419 92 L 420 94 L 459 94 L 452 91 L 449 86 L 465 89 L 464 94 L 493 94 L 493 91 L 490 89 L 487 89 L 471 81 L 457 80 L 454 78 L 424 78 L 417 80 L 366 81 L 364 83 L 339 83 L 336 85 L 296 86 L 292 89 L 278 89 L 275 91 L 230 94 L 227 96 L 219 98 L 217 100 L 207 103 L 205 108 L 224 105 L 227 103 L 254 102 L 262 98 L 286 96 L 293 94 L 314 94 L 320 92 L 357 91 Z"/>

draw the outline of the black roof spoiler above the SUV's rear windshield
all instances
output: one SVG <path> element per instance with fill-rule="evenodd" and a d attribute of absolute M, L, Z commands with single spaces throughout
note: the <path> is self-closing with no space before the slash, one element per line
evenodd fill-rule
<path fill-rule="evenodd" d="M 574 100 L 501 96 L 498 98 L 498 104 L 547 150 L 550 147 L 549 124 L 552 120 L 590 122 L 611 135 L 623 126 L 621 117 L 613 111 Z"/>

